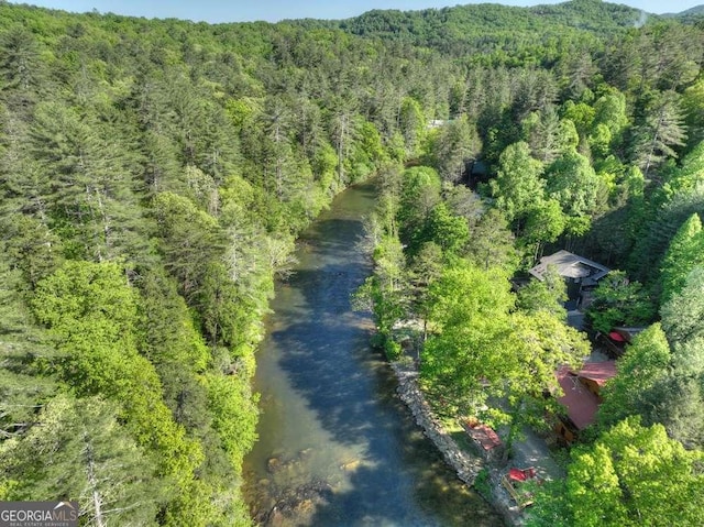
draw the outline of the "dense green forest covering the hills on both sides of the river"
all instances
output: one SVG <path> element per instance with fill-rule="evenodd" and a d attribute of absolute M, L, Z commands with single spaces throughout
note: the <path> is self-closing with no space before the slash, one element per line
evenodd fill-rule
<path fill-rule="evenodd" d="M 274 279 L 375 176 L 358 300 L 389 359 L 399 322 L 421 328 L 443 411 L 510 430 L 559 411 L 543 394 L 588 342 L 560 279 L 510 282 L 546 249 L 619 270 L 594 327 L 648 326 L 529 520 L 701 523 L 703 20 L 574 0 L 210 25 L 0 2 L 0 499 L 250 525 Z"/>

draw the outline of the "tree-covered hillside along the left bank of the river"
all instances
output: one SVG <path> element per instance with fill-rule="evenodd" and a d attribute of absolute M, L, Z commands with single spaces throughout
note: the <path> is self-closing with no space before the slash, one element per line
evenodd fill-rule
<path fill-rule="evenodd" d="M 418 150 L 452 78 L 435 58 L 0 3 L 1 499 L 249 524 L 273 278 L 338 191 Z"/>

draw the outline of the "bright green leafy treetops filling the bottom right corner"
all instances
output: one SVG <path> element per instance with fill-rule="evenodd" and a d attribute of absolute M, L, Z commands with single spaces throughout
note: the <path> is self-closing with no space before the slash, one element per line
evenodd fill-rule
<path fill-rule="evenodd" d="M 536 496 L 529 525 L 549 525 L 556 509 L 574 526 L 697 525 L 701 460 L 701 452 L 684 450 L 662 426 L 623 420 L 572 453 L 564 497 L 558 486 L 547 487 Z"/>

